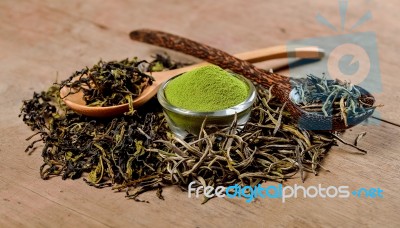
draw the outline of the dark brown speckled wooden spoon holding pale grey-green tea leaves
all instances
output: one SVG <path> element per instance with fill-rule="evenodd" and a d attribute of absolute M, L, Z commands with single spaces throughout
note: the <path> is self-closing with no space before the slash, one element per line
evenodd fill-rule
<path fill-rule="evenodd" d="M 247 77 L 253 82 L 270 88 L 272 94 L 282 103 L 286 104 L 286 109 L 292 114 L 294 119 L 298 120 L 300 127 L 304 129 L 329 131 L 344 130 L 361 123 L 374 112 L 374 109 L 370 109 L 357 116 L 350 116 L 347 118 L 347 123 L 341 116 L 324 116 L 316 112 L 307 112 L 290 100 L 292 83 L 294 82 L 288 77 L 258 69 L 250 62 L 231 56 L 226 52 L 170 33 L 141 29 L 132 31 L 130 37 L 132 40 L 195 56 L 222 68 L 230 69 L 235 73 Z M 302 83 L 302 81 L 300 81 L 300 83 Z M 364 95 L 364 98 L 369 98 L 363 99 L 364 103 L 369 105 L 374 104 L 375 99 L 369 92 L 358 86 L 357 89 Z"/>

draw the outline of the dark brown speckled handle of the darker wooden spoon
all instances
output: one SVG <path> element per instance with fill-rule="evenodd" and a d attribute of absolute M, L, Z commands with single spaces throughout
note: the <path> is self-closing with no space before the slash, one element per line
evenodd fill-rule
<path fill-rule="evenodd" d="M 231 56 L 224 51 L 218 50 L 208 45 L 201 44 L 196 41 L 192 41 L 190 39 L 170 33 L 150 29 L 132 31 L 130 33 L 130 37 L 133 40 L 169 48 L 175 51 L 195 56 L 207 62 L 216 64 L 222 68 L 230 69 L 233 72 L 241 74 L 246 78 L 266 87 L 271 87 L 272 85 L 276 84 L 278 87 L 280 87 L 281 90 L 285 90 L 279 92 L 282 93 L 280 95 L 276 94 L 278 95 L 278 98 L 283 99 L 281 101 L 286 101 L 289 96 L 291 86 L 288 77 L 273 74 L 266 70 L 258 69 L 247 61 Z"/>

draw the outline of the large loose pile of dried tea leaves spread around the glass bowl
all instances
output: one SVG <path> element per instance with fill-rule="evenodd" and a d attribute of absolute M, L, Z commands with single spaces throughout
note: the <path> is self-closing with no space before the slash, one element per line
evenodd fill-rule
<path fill-rule="evenodd" d="M 152 63 L 169 68 L 171 65 L 165 64 L 168 61 L 158 56 Z M 101 65 L 115 67 L 116 63 L 102 62 Z M 138 63 L 135 60 L 136 67 Z M 144 66 L 140 72 L 149 71 L 151 64 Z M 125 66 L 114 71 L 124 72 L 124 69 Z M 90 70 L 80 72 L 87 74 Z M 101 67 L 98 72 L 103 75 Z M 104 75 L 114 79 L 120 74 L 110 72 Z M 135 77 L 139 81 L 147 78 L 141 73 Z M 258 100 L 241 131 L 236 130 L 238 126 L 233 122 L 226 129 L 214 129 L 213 133 L 202 129 L 200 136 L 182 140 L 170 133 L 155 98 L 130 115 L 90 118 L 63 105 L 58 90 L 66 83 L 71 80 L 56 84 L 46 92 L 34 93 L 21 109 L 24 122 L 37 132 L 29 139 L 39 137 L 27 151 L 35 150 L 37 142 L 44 144 L 41 177 L 76 179 L 83 176 L 91 186 L 126 190 L 127 197 L 135 200 L 151 189 L 158 189 L 158 196 L 162 198 L 163 186 L 177 185 L 185 189 L 192 181 L 210 186 L 236 183 L 255 186 L 263 181 L 282 182 L 299 171 L 304 178 L 303 172 L 317 174 L 322 159 L 335 144 L 332 134 L 299 129 L 266 88 L 258 87 Z M 70 85 L 82 84 L 91 88 L 88 94 L 94 93 L 94 88 L 82 80 Z"/>

